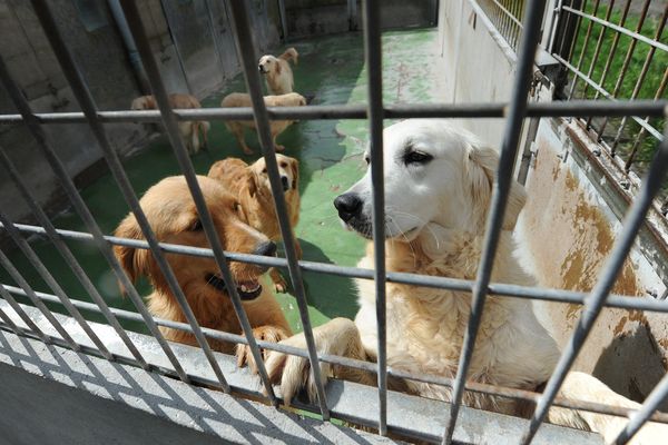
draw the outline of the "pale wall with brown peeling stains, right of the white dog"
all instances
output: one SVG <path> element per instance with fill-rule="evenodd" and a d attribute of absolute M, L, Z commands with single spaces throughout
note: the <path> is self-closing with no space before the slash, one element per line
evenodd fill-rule
<path fill-rule="evenodd" d="M 460 103 L 508 101 L 514 76 L 514 56 L 491 29 L 473 2 L 441 1 L 445 101 Z M 549 96 L 549 95 L 548 95 Z M 471 119 L 462 122 L 492 146 L 501 144 L 504 121 Z M 528 127 L 527 125 L 524 127 Z M 529 168 L 529 200 L 518 225 L 524 264 L 543 287 L 591 290 L 621 227 L 620 211 L 610 209 L 610 184 L 583 155 L 562 120 L 543 119 Z M 572 128 L 572 125 L 571 127 Z M 606 196 L 607 195 L 607 196 Z M 606 197 L 605 197 L 606 196 Z M 648 297 L 666 285 L 656 270 L 660 259 L 642 255 L 638 246 L 627 260 L 613 293 Z M 581 306 L 538 303 L 537 313 L 560 345 L 570 338 Z M 666 374 L 668 324 L 665 316 L 605 309 L 577 368 L 601 378 L 616 390 L 644 399 Z M 664 405 L 668 409 L 668 404 Z"/>

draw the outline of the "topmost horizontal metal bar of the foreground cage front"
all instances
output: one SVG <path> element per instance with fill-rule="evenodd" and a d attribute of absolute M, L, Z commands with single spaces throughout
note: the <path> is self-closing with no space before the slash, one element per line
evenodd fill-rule
<path fill-rule="evenodd" d="M 529 103 L 527 116 L 540 117 L 622 117 L 622 116 L 664 116 L 668 100 L 626 100 L 609 102 L 603 100 L 570 100 L 543 103 Z M 409 118 L 503 118 L 508 111 L 505 102 L 481 103 L 396 103 L 384 105 L 385 119 Z M 358 105 L 268 107 L 272 120 L 333 120 L 366 119 L 366 108 Z M 243 108 L 196 108 L 175 109 L 177 120 L 250 120 L 253 109 Z M 32 115 L 40 123 L 85 123 L 82 112 L 37 112 Z M 105 123 L 118 122 L 159 122 L 159 110 L 98 111 L 97 119 Z M 21 115 L 0 115 L 0 125 L 18 123 Z"/>

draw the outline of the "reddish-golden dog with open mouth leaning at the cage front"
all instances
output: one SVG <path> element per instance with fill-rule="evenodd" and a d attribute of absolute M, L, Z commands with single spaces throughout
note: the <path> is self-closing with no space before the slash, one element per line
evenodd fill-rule
<path fill-rule="evenodd" d="M 198 182 L 225 250 L 275 255 L 276 245 L 246 224 L 238 200 L 219 181 L 199 176 Z M 183 176 L 165 178 L 149 188 L 141 198 L 140 205 L 159 241 L 209 247 Z M 120 222 L 115 235 L 144 239 L 132 214 Z M 140 276 L 146 276 L 153 285 L 154 291 L 147 299 L 148 309 L 154 316 L 187 323 L 149 250 L 115 246 L 114 251 L 130 279 L 136 280 Z M 213 258 L 178 254 L 165 254 L 165 256 L 199 325 L 233 334 L 242 333 L 216 261 Z M 234 261 L 229 267 L 253 326 L 254 337 L 277 342 L 292 335 L 273 290 L 266 286 L 266 269 Z M 193 334 L 163 326 L 160 330 L 169 340 L 197 345 Z M 208 342 L 214 350 L 234 352 L 233 344 L 215 339 Z M 239 365 L 247 360 L 254 364 L 248 347 L 244 345 L 237 347 L 237 360 Z"/>

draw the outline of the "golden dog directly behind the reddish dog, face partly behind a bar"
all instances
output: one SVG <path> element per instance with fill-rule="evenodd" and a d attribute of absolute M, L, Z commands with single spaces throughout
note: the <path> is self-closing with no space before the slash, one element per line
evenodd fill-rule
<path fill-rule="evenodd" d="M 294 230 L 299 222 L 299 161 L 288 156 L 276 155 L 276 162 L 287 205 L 289 226 Z M 266 235 L 272 241 L 283 240 L 264 158 L 259 158 L 252 165 L 238 158 L 223 159 L 212 166 L 207 176 L 222 181 L 236 196 L 252 227 Z M 297 257 L 301 259 L 302 248 L 297 238 L 294 239 Z M 278 270 L 272 268 L 269 275 L 276 290 L 285 291 L 286 283 Z"/>

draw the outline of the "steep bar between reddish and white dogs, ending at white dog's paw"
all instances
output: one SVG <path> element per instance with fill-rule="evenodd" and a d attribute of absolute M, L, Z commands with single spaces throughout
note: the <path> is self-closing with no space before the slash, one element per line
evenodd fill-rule
<path fill-rule="evenodd" d="M 281 178 L 278 175 L 278 165 L 276 162 L 274 142 L 272 140 L 269 129 L 269 119 L 264 103 L 264 98 L 262 96 L 262 83 L 259 79 L 259 73 L 257 72 L 256 68 L 257 52 L 256 47 L 253 42 L 253 36 L 250 34 L 247 4 L 243 0 L 232 0 L 229 6 L 233 18 L 230 24 L 234 30 L 237 52 L 239 55 L 247 56 L 242 57 L 240 62 L 244 69 L 244 76 L 246 78 L 246 86 L 250 93 L 250 100 L 253 103 L 253 115 L 257 128 L 259 146 L 262 148 L 264 159 L 267 166 L 267 172 L 269 175 L 269 185 L 272 187 L 272 195 L 274 197 L 274 206 L 276 208 L 276 216 L 278 217 L 281 236 L 283 237 L 285 255 L 287 257 L 287 269 L 289 271 L 293 288 L 295 290 L 297 307 L 299 308 L 299 318 L 302 320 L 302 325 L 304 326 L 304 337 L 306 339 L 306 347 L 308 349 L 308 362 L 311 364 L 311 372 L 313 373 L 313 377 L 316 385 L 315 387 L 317 392 L 318 406 L 323 419 L 328 421 L 330 408 L 327 407 L 327 399 L 325 395 L 325 387 L 323 385 L 322 370 L 317 359 L 317 350 L 315 348 L 315 339 L 313 337 L 311 318 L 308 317 L 308 303 L 306 301 L 306 290 L 304 289 L 302 269 L 298 267 L 297 264 L 297 253 L 295 249 L 294 235 L 289 226 L 287 206 L 285 204 L 285 195 L 283 192 L 283 187 L 281 185 Z"/>

